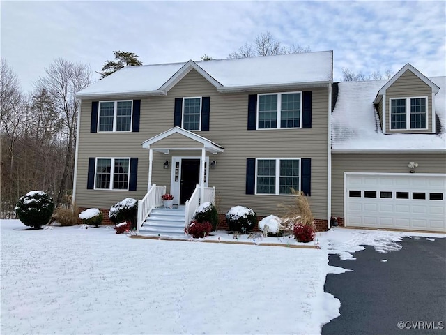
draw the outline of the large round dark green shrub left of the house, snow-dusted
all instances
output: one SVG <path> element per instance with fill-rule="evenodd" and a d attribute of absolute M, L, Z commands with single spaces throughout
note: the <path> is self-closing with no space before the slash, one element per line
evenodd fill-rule
<path fill-rule="evenodd" d="M 43 191 L 31 191 L 15 205 L 15 213 L 24 225 L 40 228 L 49 222 L 54 211 L 54 201 Z"/>

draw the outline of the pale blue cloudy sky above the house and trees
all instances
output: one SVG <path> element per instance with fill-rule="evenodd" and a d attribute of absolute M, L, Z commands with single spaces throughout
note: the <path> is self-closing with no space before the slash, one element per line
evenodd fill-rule
<path fill-rule="evenodd" d="M 1 57 L 29 91 L 54 58 L 100 71 L 114 50 L 143 64 L 224 59 L 270 31 L 333 50 L 341 69 L 446 75 L 446 1 L 0 1 Z M 99 75 L 94 75 L 98 80 Z"/>

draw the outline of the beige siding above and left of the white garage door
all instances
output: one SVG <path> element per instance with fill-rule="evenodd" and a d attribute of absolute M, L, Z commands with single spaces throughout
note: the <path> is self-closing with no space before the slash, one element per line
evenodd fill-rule
<path fill-rule="evenodd" d="M 446 173 L 446 154 L 332 154 L 332 216 L 344 216 L 344 172 Z"/>

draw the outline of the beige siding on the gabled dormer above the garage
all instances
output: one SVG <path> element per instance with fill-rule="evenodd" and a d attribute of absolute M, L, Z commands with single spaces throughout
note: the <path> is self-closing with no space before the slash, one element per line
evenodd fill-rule
<path fill-rule="evenodd" d="M 385 92 L 385 129 L 387 133 L 432 133 L 432 89 L 420 77 L 406 70 Z M 390 99 L 427 96 L 427 130 L 426 129 L 390 129 Z M 407 117 L 410 117 L 407 114 Z"/>

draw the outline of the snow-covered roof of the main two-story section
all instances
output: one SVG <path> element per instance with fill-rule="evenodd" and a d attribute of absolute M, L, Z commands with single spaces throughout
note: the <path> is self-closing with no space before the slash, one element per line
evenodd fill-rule
<path fill-rule="evenodd" d="M 111 94 L 165 94 L 162 85 L 185 64 L 128 66 L 105 77 L 77 96 Z M 306 52 L 278 56 L 194 62 L 223 87 L 304 84 L 332 80 L 332 52 Z"/>

